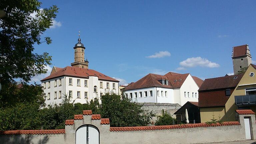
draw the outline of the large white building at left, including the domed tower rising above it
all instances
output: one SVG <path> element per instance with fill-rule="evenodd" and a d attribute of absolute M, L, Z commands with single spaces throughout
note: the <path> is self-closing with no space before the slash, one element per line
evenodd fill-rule
<path fill-rule="evenodd" d="M 65 96 L 74 103 L 83 104 L 101 99 L 106 92 L 119 94 L 118 80 L 88 69 L 89 61 L 84 60 L 84 50 L 79 37 L 74 47 L 75 62 L 65 68 L 53 67 L 50 76 L 41 80 L 46 105 L 61 104 Z"/>

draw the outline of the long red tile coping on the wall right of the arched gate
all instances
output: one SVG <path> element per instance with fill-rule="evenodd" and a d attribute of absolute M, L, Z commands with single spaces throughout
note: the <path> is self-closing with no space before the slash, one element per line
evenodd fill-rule
<path fill-rule="evenodd" d="M 240 125 L 238 121 L 223 122 L 217 124 L 183 124 L 183 125 L 165 125 L 165 126 L 138 126 L 138 127 L 110 127 L 110 131 L 141 131 L 141 130 L 165 130 L 165 129 L 182 129 L 182 128 L 196 128 L 196 127 L 215 127 L 215 126 L 228 126 Z"/>

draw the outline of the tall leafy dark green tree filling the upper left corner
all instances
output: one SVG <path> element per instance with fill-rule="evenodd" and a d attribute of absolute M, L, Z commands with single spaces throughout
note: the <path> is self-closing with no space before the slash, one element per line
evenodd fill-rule
<path fill-rule="evenodd" d="M 1 0 L 0 9 L 6 16 L 0 19 L 0 92 L 1 106 L 7 106 L 15 94 L 15 79 L 27 83 L 31 77 L 47 72 L 51 64 L 48 53 L 33 53 L 34 44 L 52 40 L 41 35 L 52 26 L 58 12 L 57 6 L 40 10 L 38 0 Z M 36 12 L 36 16 L 31 14 Z M 17 99 L 17 98 L 15 98 Z M 18 100 L 19 101 L 19 100 Z"/>

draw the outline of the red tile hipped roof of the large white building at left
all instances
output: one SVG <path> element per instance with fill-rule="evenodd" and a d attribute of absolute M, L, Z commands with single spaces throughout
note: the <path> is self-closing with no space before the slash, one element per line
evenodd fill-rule
<path fill-rule="evenodd" d="M 113 79 L 109 76 L 106 76 L 106 75 L 104 75 L 100 72 L 97 72 L 95 70 L 83 69 L 83 68 L 71 67 L 71 66 L 67 66 L 65 68 L 62 68 L 61 70 L 50 74 L 50 76 L 42 79 L 41 81 L 45 81 L 45 80 L 48 80 L 48 79 L 61 77 L 61 76 L 74 76 L 74 77 L 81 77 L 81 78 L 89 78 L 89 76 L 97 76 L 99 78 L 99 80 L 119 82 L 118 80 Z"/>

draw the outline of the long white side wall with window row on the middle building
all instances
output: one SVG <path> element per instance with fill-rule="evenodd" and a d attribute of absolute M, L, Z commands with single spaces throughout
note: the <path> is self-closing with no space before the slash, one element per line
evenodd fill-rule
<path fill-rule="evenodd" d="M 157 95 L 157 90 L 159 90 L 159 96 Z M 147 91 L 147 97 L 145 97 L 145 91 Z M 150 96 L 150 91 L 152 91 L 153 96 Z M 161 91 L 163 91 L 163 96 L 161 96 Z M 167 97 L 165 97 L 165 91 L 167 91 Z M 137 98 L 135 98 L 135 92 L 137 92 Z M 142 92 L 142 97 L 140 97 L 140 92 Z M 167 89 L 167 88 L 141 88 L 141 89 L 135 89 L 135 90 L 127 90 L 125 92 L 128 94 L 128 97 L 130 98 L 130 93 L 132 93 L 132 101 L 144 103 L 144 102 L 153 102 L 153 103 L 173 103 L 173 90 Z"/>

